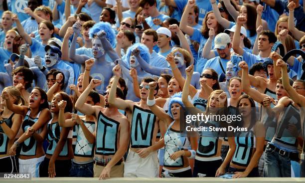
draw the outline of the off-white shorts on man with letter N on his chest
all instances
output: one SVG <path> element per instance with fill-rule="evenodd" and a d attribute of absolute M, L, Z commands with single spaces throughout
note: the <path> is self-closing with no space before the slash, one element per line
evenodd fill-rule
<path fill-rule="evenodd" d="M 126 178 L 158 178 L 159 161 L 156 151 L 150 153 L 146 158 L 141 158 L 138 153 L 129 151 L 125 167 Z"/>

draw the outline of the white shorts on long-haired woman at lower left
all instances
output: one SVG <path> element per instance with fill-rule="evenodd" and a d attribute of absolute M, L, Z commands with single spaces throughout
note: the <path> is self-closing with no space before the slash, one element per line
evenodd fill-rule
<path fill-rule="evenodd" d="M 44 160 L 44 155 L 39 158 L 32 158 L 28 160 L 19 159 L 19 173 L 31 173 L 32 178 L 39 178 L 39 165 Z"/>

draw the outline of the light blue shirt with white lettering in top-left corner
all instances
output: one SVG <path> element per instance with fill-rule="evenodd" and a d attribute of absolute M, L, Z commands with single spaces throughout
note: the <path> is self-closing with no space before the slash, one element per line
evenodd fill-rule
<path fill-rule="evenodd" d="M 27 0 L 7 0 L 7 7 L 11 12 L 18 15 L 20 22 L 30 17 L 23 10 L 27 7 Z"/>

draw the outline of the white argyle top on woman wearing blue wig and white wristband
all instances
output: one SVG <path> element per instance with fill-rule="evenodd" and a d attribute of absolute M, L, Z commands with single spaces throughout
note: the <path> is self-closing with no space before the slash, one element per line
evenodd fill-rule
<path fill-rule="evenodd" d="M 171 128 L 173 124 L 174 121 L 170 123 L 164 135 L 164 166 L 183 167 L 183 156 L 177 158 L 176 160 L 172 160 L 170 159 L 170 155 L 180 150 L 187 150 L 190 147 L 190 142 L 185 133 L 182 134 L 180 131 Z"/>

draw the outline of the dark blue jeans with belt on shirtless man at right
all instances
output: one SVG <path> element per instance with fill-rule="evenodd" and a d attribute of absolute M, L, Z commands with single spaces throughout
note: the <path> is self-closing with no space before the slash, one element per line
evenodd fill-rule
<path fill-rule="evenodd" d="M 264 177 L 291 177 L 290 161 L 290 158 L 280 155 L 270 147 L 266 147 Z"/>

